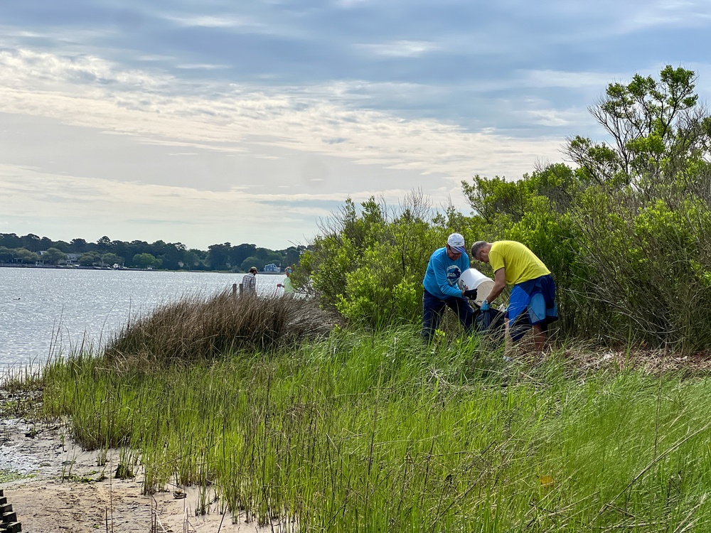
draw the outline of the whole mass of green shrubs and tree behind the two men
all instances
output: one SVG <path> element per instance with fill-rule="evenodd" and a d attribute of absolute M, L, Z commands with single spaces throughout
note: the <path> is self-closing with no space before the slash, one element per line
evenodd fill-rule
<path fill-rule="evenodd" d="M 416 322 L 427 261 L 449 233 L 514 239 L 552 271 L 566 337 L 711 348 L 711 117 L 694 84 L 693 72 L 667 67 L 658 80 L 609 85 L 591 111 L 610 142 L 569 139 L 577 168 L 475 176 L 462 183 L 469 217 L 417 193 L 397 208 L 349 201 L 294 279 L 351 323 Z"/>

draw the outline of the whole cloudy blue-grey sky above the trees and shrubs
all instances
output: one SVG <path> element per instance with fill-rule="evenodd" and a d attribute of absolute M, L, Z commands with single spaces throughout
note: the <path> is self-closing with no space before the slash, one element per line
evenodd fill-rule
<path fill-rule="evenodd" d="M 567 162 L 610 82 L 711 95 L 708 0 L 3 0 L 0 232 L 284 249 Z"/>

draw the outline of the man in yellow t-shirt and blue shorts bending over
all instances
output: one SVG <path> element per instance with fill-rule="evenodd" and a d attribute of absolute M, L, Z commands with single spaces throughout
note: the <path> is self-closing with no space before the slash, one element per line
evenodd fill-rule
<path fill-rule="evenodd" d="M 547 325 L 558 319 L 555 303 L 555 282 L 543 262 L 528 247 L 516 241 L 477 241 L 471 246 L 471 257 L 491 264 L 494 283 L 481 304 L 486 311 L 489 303 L 512 285 L 506 308 L 506 333 L 520 340 L 528 328 L 533 328 L 537 350 L 545 343 Z"/>

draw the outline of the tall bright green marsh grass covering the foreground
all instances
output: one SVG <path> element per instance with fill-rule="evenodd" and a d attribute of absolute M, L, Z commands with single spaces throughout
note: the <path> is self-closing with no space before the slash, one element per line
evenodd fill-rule
<path fill-rule="evenodd" d="M 121 446 L 144 489 L 301 531 L 703 531 L 707 379 L 506 363 L 474 339 L 336 328 L 292 350 L 45 372 L 47 416 Z M 134 453 L 133 459 L 129 456 Z M 213 510 L 217 510 L 215 507 Z"/>

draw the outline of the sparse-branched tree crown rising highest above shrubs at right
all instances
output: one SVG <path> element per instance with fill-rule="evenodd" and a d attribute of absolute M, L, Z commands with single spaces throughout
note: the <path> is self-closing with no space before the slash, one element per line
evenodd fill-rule
<path fill-rule="evenodd" d="M 576 136 L 568 156 L 597 183 L 614 188 L 647 186 L 670 178 L 689 159 L 709 154 L 711 121 L 697 109 L 696 75 L 667 65 L 659 80 L 634 75 L 629 84 L 611 83 L 590 108 L 612 144 Z"/>

